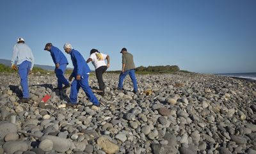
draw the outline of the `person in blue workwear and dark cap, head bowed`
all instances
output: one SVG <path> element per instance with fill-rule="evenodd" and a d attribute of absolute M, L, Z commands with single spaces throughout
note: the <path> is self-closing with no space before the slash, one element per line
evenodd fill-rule
<path fill-rule="evenodd" d="M 61 89 L 66 89 L 66 88 L 70 87 L 67 79 L 64 76 L 66 69 L 67 69 L 67 65 L 68 65 L 68 60 L 67 60 L 66 56 L 63 54 L 63 52 L 61 52 L 60 49 L 58 49 L 57 47 L 54 47 L 52 45 L 52 43 L 47 43 L 45 45 L 44 50 L 51 52 L 52 60 L 55 64 L 54 72 L 58 79 L 58 86 L 57 86 L 57 88 L 54 88 L 54 89 L 61 90 Z M 64 87 L 62 87 L 63 84 L 65 85 Z"/>

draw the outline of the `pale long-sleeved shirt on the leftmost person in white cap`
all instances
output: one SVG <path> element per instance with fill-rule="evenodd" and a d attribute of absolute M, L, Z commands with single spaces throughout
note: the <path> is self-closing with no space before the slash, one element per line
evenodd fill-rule
<path fill-rule="evenodd" d="M 20 65 L 23 61 L 30 61 L 30 70 L 33 69 L 35 59 L 32 50 L 25 43 L 16 43 L 13 47 L 11 63 L 15 64 L 17 62 L 17 65 Z"/>

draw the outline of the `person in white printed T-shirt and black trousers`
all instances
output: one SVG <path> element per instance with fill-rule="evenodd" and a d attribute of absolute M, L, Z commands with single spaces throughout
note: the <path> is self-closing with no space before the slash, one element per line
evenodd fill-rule
<path fill-rule="evenodd" d="M 108 64 L 106 64 L 105 59 L 107 59 Z M 109 56 L 106 54 L 100 53 L 99 50 L 97 49 L 92 49 L 90 51 L 90 58 L 87 59 L 86 63 L 89 63 L 90 61 L 92 61 L 92 64 L 95 67 L 95 73 L 99 83 L 99 89 L 101 91 L 99 94 L 104 96 L 105 84 L 104 84 L 102 75 L 104 72 L 106 72 L 106 70 L 110 66 Z"/>

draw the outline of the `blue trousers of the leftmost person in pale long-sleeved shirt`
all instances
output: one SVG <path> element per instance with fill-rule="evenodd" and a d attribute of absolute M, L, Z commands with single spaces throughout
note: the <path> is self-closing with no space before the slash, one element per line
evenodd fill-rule
<path fill-rule="evenodd" d="M 20 84 L 22 87 L 23 98 L 29 98 L 28 74 L 29 74 L 30 68 L 31 68 L 30 61 L 23 61 L 19 65 Z"/>

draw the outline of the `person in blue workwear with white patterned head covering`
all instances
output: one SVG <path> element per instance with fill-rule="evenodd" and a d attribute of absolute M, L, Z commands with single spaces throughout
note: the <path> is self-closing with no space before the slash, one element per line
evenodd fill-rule
<path fill-rule="evenodd" d="M 93 94 L 88 83 L 88 77 L 91 70 L 83 56 L 77 50 L 73 49 L 70 43 L 65 43 L 64 50 L 67 52 L 67 54 L 70 54 L 72 63 L 74 65 L 74 70 L 68 78 L 68 81 L 72 81 L 72 79 L 75 78 L 71 84 L 70 103 L 67 104 L 67 107 L 75 106 L 77 104 L 77 93 L 80 88 L 83 89 L 84 93 L 89 98 L 90 102 L 93 103 L 93 105 L 99 106 L 100 102 Z"/>

